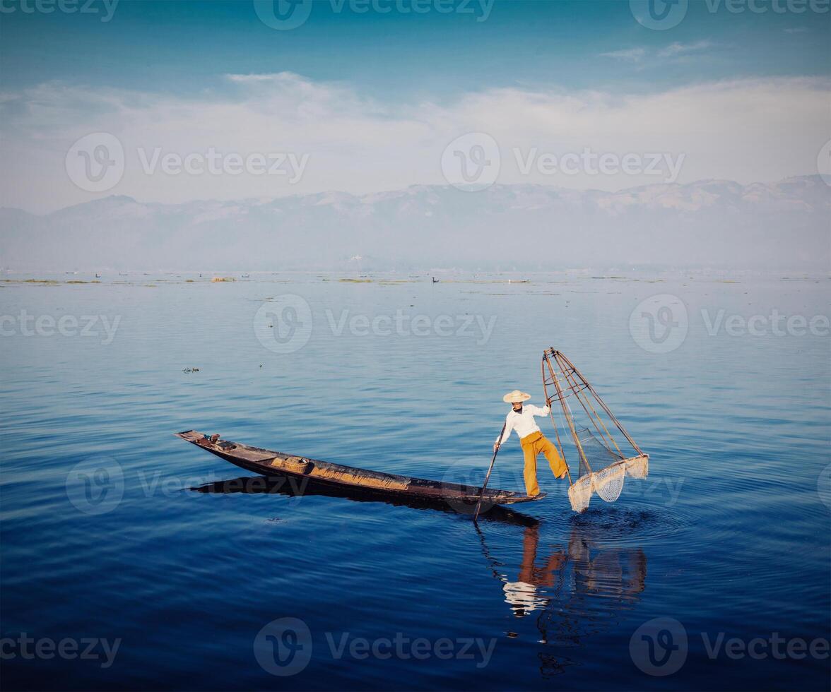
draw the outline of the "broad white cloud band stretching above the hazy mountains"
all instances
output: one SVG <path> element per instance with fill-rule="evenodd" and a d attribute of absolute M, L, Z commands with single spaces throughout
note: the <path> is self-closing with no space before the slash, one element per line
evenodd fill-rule
<path fill-rule="evenodd" d="M 621 189 L 644 176 L 524 175 L 523 156 L 664 152 L 685 155 L 679 182 L 776 180 L 816 171 L 828 140 L 829 81 L 736 80 L 630 96 L 601 91 L 492 89 L 451 101 L 381 102 L 344 84 L 291 73 L 229 75 L 199 97 L 89 89 L 59 83 L 0 97 L 0 205 L 46 211 L 100 194 L 77 189 L 64 159 L 83 135 L 124 145 L 124 177 L 108 194 L 145 201 L 240 199 L 324 190 L 366 193 L 445 184 L 445 146 L 466 132 L 499 143 L 500 183 Z M 241 155 L 308 155 L 302 178 L 267 174 L 145 174 L 137 150 L 178 155 L 209 148 Z"/>

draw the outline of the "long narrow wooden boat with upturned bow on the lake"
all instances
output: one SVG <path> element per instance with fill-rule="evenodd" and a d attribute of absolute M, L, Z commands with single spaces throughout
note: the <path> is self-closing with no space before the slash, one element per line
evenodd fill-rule
<path fill-rule="evenodd" d="M 356 469 L 352 466 L 331 464 L 327 461 L 308 459 L 294 454 L 273 452 L 270 449 L 251 447 L 211 437 L 197 430 L 176 433 L 176 437 L 207 449 L 211 454 L 231 462 L 235 466 L 267 477 L 295 477 L 305 479 L 315 486 L 351 490 L 363 495 L 385 498 L 399 497 L 441 500 L 453 503 L 475 503 L 479 499 L 480 487 L 445 483 L 437 480 L 416 479 L 411 476 L 384 474 L 380 471 Z M 488 488 L 482 496 L 487 504 L 514 504 L 542 499 L 545 493 L 529 497 L 511 490 Z"/>

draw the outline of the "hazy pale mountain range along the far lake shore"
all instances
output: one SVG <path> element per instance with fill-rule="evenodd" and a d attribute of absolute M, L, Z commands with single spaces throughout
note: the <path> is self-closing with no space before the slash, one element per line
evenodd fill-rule
<path fill-rule="evenodd" d="M 610 193 L 543 185 L 143 203 L 111 196 L 44 216 L 0 209 L 15 270 L 829 268 L 819 176 Z"/>

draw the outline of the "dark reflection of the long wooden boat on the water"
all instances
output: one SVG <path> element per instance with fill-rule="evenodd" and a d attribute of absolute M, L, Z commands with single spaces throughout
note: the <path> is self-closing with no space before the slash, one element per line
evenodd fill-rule
<path fill-rule="evenodd" d="M 444 500 L 430 500 L 429 498 L 397 497 L 366 497 L 356 493 L 353 488 L 335 488 L 305 483 L 307 479 L 295 479 L 288 476 L 266 478 L 265 476 L 241 476 L 238 479 L 205 483 L 197 488 L 190 488 L 196 493 L 230 495 L 235 493 L 288 495 L 293 498 L 327 497 L 344 498 L 354 502 L 383 502 L 395 507 L 411 507 L 413 509 L 427 509 L 455 514 L 455 508 L 450 507 Z M 538 520 L 506 507 L 499 505 L 491 508 L 487 514 L 479 517 L 479 522 L 495 522 L 512 524 L 514 526 L 534 526 Z"/>

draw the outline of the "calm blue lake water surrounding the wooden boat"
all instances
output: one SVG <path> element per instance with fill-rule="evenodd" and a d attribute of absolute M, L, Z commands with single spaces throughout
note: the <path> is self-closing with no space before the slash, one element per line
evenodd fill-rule
<path fill-rule="evenodd" d="M 4 277 L 3 689 L 829 689 L 829 336 L 770 318 L 828 316 L 827 277 Z M 657 299 L 633 337 L 656 294 L 686 318 Z M 730 334 L 731 315 L 767 321 Z M 42 316 L 119 321 L 50 336 Z M 477 531 L 452 509 L 232 492 L 251 474 L 173 436 L 478 482 L 504 391 L 542 403 L 547 346 L 651 454 L 579 516 L 543 464 L 548 498 Z M 521 459 L 514 437 L 493 487 L 521 488 Z"/>

